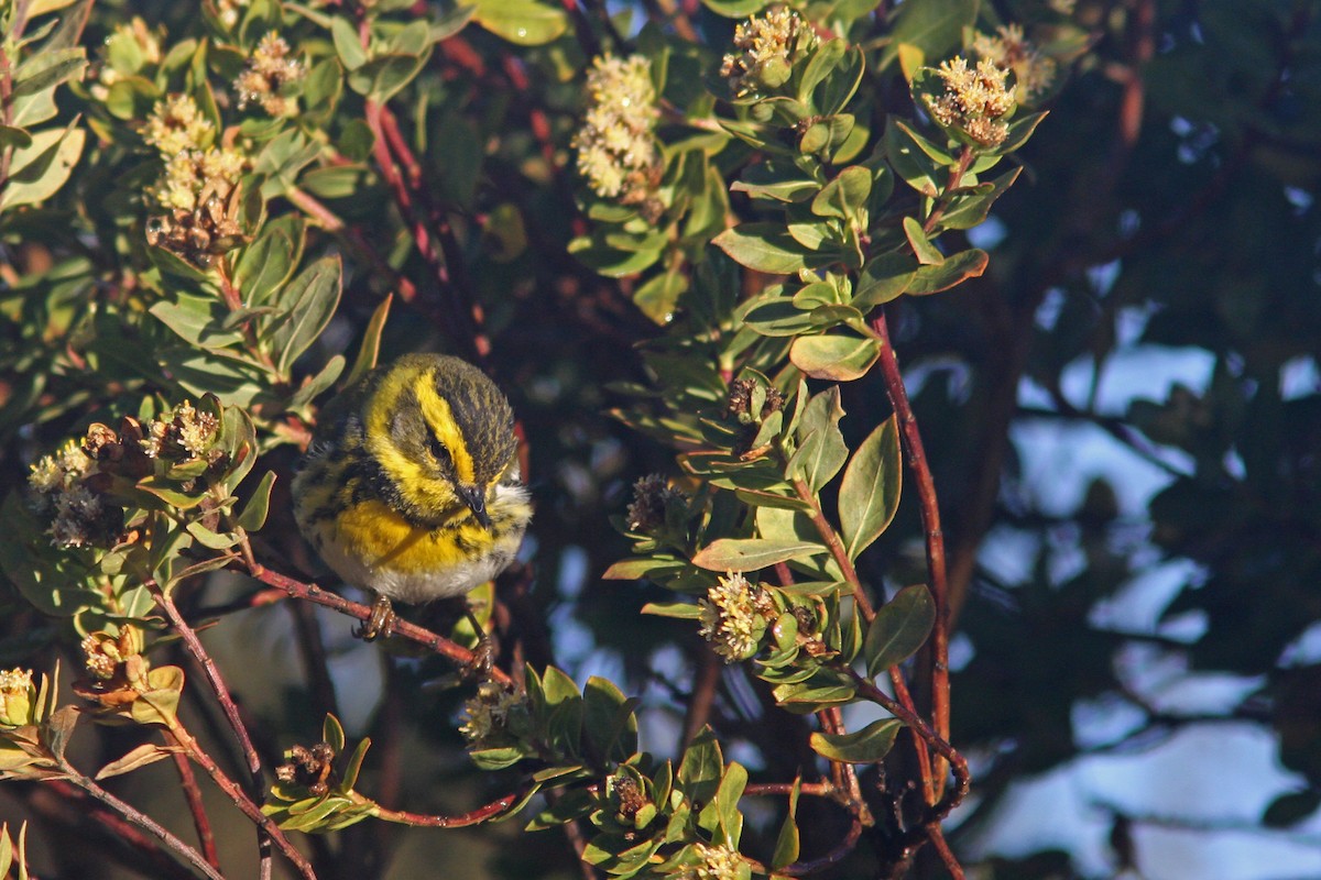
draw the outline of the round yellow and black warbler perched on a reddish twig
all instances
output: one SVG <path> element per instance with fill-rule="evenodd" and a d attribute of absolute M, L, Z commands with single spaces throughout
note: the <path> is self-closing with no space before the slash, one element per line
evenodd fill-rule
<path fill-rule="evenodd" d="M 332 400 L 293 479 L 295 517 L 345 582 L 391 600 L 464 595 L 514 559 L 532 516 L 509 400 L 481 369 L 406 355 Z"/>

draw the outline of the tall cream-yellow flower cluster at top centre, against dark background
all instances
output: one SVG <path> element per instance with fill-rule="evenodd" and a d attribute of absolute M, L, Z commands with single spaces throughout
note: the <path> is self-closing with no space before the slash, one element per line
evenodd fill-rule
<path fill-rule="evenodd" d="M 660 170 L 651 62 L 601 55 L 588 71 L 587 91 L 583 128 L 573 136 L 579 172 L 601 198 L 645 201 Z"/>

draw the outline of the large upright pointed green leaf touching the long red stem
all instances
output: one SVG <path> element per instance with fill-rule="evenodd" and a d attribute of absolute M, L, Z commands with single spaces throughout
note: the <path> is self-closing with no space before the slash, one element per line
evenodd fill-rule
<path fill-rule="evenodd" d="M 889 528 L 902 474 L 898 418 L 890 416 L 853 453 L 839 487 L 839 524 L 849 559 Z"/>

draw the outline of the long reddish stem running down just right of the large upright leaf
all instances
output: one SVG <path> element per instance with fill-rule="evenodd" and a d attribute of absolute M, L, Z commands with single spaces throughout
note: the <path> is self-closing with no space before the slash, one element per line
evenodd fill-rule
<path fill-rule="evenodd" d="M 935 603 L 935 627 L 931 631 L 931 720 L 935 734 L 942 740 L 950 739 L 950 591 L 945 571 L 945 532 L 941 530 L 941 508 L 935 497 L 935 480 L 922 447 L 922 434 L 917 417 L 909 404 L 904 387 L 904 373 L 900 371 L 898 356 L 890 343 L 889 325 L 885 311 L 877 310 L 872 319 L 872 330 L 881 343 L 881 375 L 885 377 L 885 392 L 898 416 L 904 446 L 908 453 L 909 471 L 917 483 L 918 505 L 922 512 L 922 532 L 926 536 L 926 567 L 930 575 L 931 599 Z M 946 768 L 938 760 L 935 772 L 929 777 L 933 785 L 941 785 Z M 927 803 L 934 803 L 935 792 L 927 790 Z"/>

